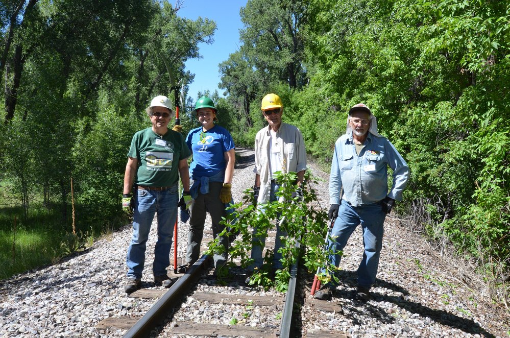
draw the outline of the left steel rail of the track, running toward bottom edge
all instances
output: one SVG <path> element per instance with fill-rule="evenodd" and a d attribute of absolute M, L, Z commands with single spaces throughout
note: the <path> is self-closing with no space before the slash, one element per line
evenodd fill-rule
<path fill-rule="evenodd" d="M 180 298 L 195 284 L 208 264 L 207 255 L 203 255 L 189 270 L 172 285 L 168 291 L 126 332 L 124 338 L 148 337 L 154 327 L 168 317 L 168 309 L 179 304 Z"/>

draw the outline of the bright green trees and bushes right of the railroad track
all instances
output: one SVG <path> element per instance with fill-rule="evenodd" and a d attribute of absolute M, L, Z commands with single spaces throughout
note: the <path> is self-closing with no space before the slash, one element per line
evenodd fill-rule
<path fill-rule="evenodd" d="M 221 68 L 231 102 L 278 93 L 286 122 L 303 132 L 307 153 L 331 159 L 346 112 L 364 102 L 411 168 L 399 210 L 433 239 L 479 262 L 498 280 L 510 273 L 510 5 L 490 0 L 249 0 L 241 49 Z M 257 12 L 257 20 L 252 13 Z M 272 15 L 272 13 L 287 13 Z M 282 77 L 286 60 L 270 41 L 289 38 L 301 81 Z M 270 26 L 264 26 L 268 22 Z M 257 31 L 257 34 L 248 34 Z M 246 47 L 245 47 L 246 46 Z M 236 60 L 242 60 L 237 62 Z M 264 63 L 261 63 L 263 60 Z M 278 71 L 275 71 L 278 69 Z M 242 75 L 240 87 L 233 75 Z M 231 85 L 235 83 L 236 85 Z M 247 90 L 247 88 L 252 88 Z M 239 110 L 241 111 L 241 110 Z M 499 279 L 500 280 L 500 279 Z M 493 283 L 494 284 L 494 283 Z"/>

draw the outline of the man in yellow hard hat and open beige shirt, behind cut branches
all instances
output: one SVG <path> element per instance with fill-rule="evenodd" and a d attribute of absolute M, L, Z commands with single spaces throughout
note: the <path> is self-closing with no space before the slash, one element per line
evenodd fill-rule
<path fill-rule="evenodd" d="M 306 171 L 303 135 L 297 127 L 282 122 L 283 104 L 280 96 L 274 93 L 265 95 L 262 99 L 261 110 L 268 126 L 262 128 L 255 137 L 255 168 L 253 170 L 255 185 L 253 189 L 258 205 L 276 201 L 276 191 L 280 188 L 280 184 L 275 180 L 275 173 L 297 173 L 296 186 L 300 187 Z M 297 190 L 299 191 L 299 189 Z M 254 234 L 256 231 L 254 229 Z M 280 236 L 282 235 L 286 236 L 287 234 L 277 224 L 272 273 L 282 268 L 281 253 L 278 252 L 281 247 Z M 252 268 L 260 268 L 265 237 L 254 235 L 253 243 L 252 259 L 254 263 Z M 250 278 L 247 278 L 246 282 L 250 284 Z"/>

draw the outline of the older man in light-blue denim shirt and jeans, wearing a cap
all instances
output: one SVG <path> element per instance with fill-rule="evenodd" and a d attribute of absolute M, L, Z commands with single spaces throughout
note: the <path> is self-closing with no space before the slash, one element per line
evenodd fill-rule
<path fill-rule="evenodd" d="M 387 167 L 393 170 L 393 184 L 388 192 Z M 328 248 L 342 251 L 354 229 L 361 224 L 365 252 L 358 268 L 356 298 L 370 298 L 382 249 L 384 219 L 395 201 L 402 200 L 402 190 L 409 178 L 409 167 L 393 144 L 377 133 L 377 120 L 370 109 L 360 103 L 349 110 L 347 132 L 336 140 L 329 197 L 330 220 L 335 219 Z M 343 191 L 343 192 L 342 192 Z M 341 255 L 330 256 L 338 267 Z M 326 283 L 315 298 L 331 299 L 336 285 Z"/>

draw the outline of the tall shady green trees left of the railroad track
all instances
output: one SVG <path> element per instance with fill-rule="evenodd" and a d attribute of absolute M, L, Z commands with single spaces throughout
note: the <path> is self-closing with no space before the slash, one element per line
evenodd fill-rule
<path fill-rule="evenodd" d="M 19 199 L 25 212 L 18 222 L 29 224 L 31 205 L 43 205 L 60 214 L 57 233 L 70 231 L 72 178 L 78 231 L 98 234 L 125 223 L 119 196 L 126 154 L 134 132 L 150 126 L 145 107 L 160 94 L 174 101 L 177 82 L 193 80 L 185 61 L 201 57 L 199 43 L 213 41 L 215 22 L 182 18 L 180 6 L 2 2 L 3 212 Z M 189 109 L 181 120 L 189 129 Z"/>

